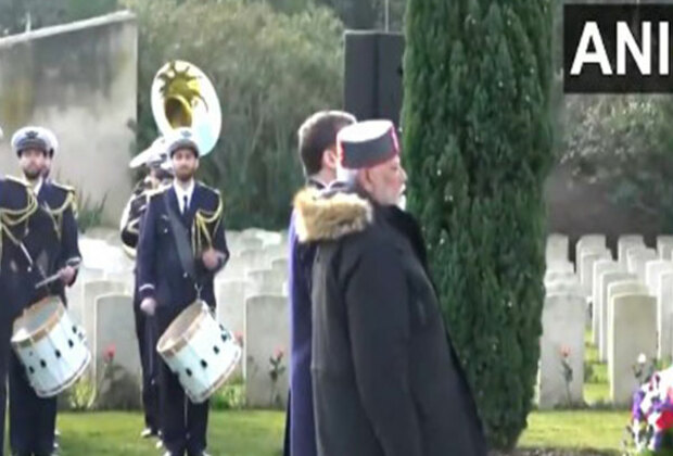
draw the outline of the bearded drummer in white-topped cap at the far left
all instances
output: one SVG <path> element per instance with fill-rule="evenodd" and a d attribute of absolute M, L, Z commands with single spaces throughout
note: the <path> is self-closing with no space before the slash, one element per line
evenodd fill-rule
<path fill-rule="evenodd" d="M 45 182 L 42 173 L 50 142 L 45 130 L 25 127 L 12 138 L 26 186 L 31 189 L 37 210 L 26 229 L 14 232 L 16 240 L 4 245 L 4 282 L 15 303 L 16 314 L 48 295 L 65 303 L 65 286 L 76 279 L 80 255 L 73 215 L 72 189 Z M 36 284 L 58 273 L 59 280 Z M 12 318 L 12 320 L 14 319 Z M 28 381 L 28 372 L 16 355 L 10 354 L 10 446 L 14 455 L 51 455 L 54 448 L 56 398 L 40 398 Z"/>

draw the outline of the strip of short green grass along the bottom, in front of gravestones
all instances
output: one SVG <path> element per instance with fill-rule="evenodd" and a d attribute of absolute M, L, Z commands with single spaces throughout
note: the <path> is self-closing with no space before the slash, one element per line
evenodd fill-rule
<path fill-rule="evenodd" d="M 536 411 L 529 417 L 521 447 L 619 451 L 627 411 Z M 59 415 L 63 456 L 141 456 L 161 454 L 153 441 L 141 440 L 140 414 Z M 278 456 L 282 445 L 282 411 L 214 411 L 208 449 L 214 456 Z"/>

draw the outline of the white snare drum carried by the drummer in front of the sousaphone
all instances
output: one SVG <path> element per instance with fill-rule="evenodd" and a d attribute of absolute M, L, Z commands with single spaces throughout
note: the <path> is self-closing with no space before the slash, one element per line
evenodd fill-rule
<path fill-rule="evenodd" d="M 205 402 L 223 385 L 242 352 L 231 332 L 213 318 L 202 301 L 173 320 L 156 350 L 194 404 Z"/>

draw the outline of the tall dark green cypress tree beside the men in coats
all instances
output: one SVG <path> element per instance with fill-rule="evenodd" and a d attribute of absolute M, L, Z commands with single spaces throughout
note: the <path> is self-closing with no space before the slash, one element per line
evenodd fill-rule
<path fill-rule="evenodd" d="M 408 207 L 492 446 L 525 428 L 544 300 L 553 163 L 549 0 L 409 0 Z"/>

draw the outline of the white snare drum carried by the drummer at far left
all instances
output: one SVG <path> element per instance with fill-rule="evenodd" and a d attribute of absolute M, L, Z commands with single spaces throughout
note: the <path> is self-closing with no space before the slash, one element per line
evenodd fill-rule
<path fill-rule="evenodd" d="M 58 296 L 47 296 L 14 320 L 12 346 L 39 397 L 67 390 L 91 362 L 82 328 Z"/>

